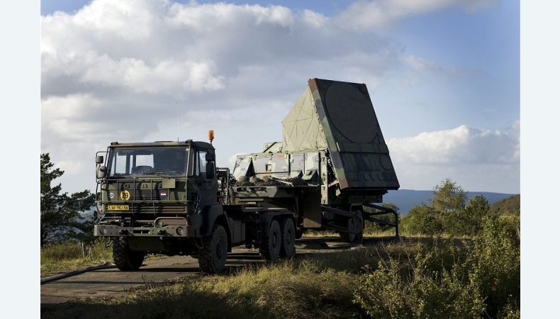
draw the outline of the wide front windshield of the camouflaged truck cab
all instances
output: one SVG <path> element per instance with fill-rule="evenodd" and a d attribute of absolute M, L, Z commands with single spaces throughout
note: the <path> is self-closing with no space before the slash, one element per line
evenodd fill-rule
<path fill-rule="evenodd" d="M 110 177 L 161 175 L 184 177 L 186 175 L 187 147 L 127 147 L 113 148 L 109 153 Z"/>

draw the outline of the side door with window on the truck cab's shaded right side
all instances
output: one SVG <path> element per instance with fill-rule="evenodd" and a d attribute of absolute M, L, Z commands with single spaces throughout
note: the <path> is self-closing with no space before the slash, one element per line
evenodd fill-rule
<path fill-rule="evenodd" d="M 215 179 L 215 161 L 211 150 L 198 150 L 195 157 L 195 178 L 201 206 L 218 202 L 218 181 Z"/>

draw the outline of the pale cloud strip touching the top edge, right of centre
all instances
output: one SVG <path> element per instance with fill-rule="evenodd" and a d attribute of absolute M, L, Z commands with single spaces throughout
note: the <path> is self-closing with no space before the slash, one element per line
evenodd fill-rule
<path fill-rule="evenodd" d="M 337 21 L 345 28 L 377 28 L 409 16 L 452 6 L 474 11 L 498 2 L 498 0 L 358 0 L 342 11 L 337 17 Z"/>

